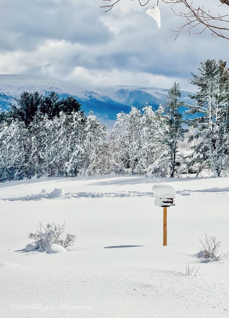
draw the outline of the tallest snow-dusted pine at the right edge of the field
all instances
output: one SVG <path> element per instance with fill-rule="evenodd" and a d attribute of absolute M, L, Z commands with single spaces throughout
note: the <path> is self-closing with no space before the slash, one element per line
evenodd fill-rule
<path fill-rule="evenodd" d="M 225 67 L 222 60 L 208 59 L 201 62 L 199 73 L 192 73 L 190 80 L 199 90 L 190 95 L 196 102 L 189 105 L 188 113 L 197 117 L 189 120 L 189 125 L 195 128 L 193 138 L 200 137 L 193 146 L 191 164 L 199 163 L 198 172 L 210 167 L 214 176 L 220 175 L 228 161 L 229 73 Z"/>

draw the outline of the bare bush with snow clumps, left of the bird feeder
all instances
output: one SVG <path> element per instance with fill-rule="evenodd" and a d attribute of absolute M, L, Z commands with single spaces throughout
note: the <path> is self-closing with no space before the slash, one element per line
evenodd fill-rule
<path fill-rule="evenodd" d="M 39 222 L 36 232 L 31 232 L 29 234 L 29 239 L 34 240 L 34 243 L 44 251 L 46 251 L 48 246 L 51 244 L 57 244 L 63 248 L 66 248 L 74 244 L 76 241 L 76 235 L 67 234 L 64 238 L 64 230 L 65 222 L 62 225 L 56 225 L 55 223 L 48 223 L 44 225 L 42 222 Z"/>

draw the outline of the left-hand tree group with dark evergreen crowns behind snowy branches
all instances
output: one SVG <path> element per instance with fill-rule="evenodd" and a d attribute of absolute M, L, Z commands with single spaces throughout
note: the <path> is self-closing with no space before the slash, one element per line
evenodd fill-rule
<path fill-rule="evenodd" d="M 0 114 L 0 181 L 91 175 L 100 167 L 106 127 L 73 97 L 21 94 Z"/>

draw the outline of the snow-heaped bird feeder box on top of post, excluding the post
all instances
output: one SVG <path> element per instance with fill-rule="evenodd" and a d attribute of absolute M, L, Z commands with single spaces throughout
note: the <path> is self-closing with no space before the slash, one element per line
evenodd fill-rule
<path fill-rule="evenodd" d="M 155 198 L 155 206 L 174 205 L 173 199 L 176 197 L 176 188 L 168 182 L 156 183 L 152 187 Z"/>

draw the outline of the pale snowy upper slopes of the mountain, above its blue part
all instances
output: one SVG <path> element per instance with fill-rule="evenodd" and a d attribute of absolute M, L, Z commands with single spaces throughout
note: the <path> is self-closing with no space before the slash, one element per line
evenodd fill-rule
<path fill-rule="evenodd" d="M 61 81 L 52 77 L 25 74 L 0 74 L 0 93 L 19 97 L 20 93 L 35 92 L 40 93 L 54 91 L 58 94 L 70 94 L 77 96 L 81 100 L 105 100 L 109 97 L 120 103 L 126 103 L 129 99 L 129 91 L 135 92 L 142 90 L 144 93 L 152 94 L 158 100 L 165 100 L 168 93 L 167 89 L 141 87 L 141 86 L 84 86 L 80 83 L 74 84 L 68 81 Z M 126 94 L 125 94 L 126 91 Z M 122 93 L 123 92 L 123 93 Z M 187 98 L 185 92 L 185 97 Z M 136 97 L 135 97 L 136 98 Z M 128 102 L 127 104 L 131 104 Z"/>

